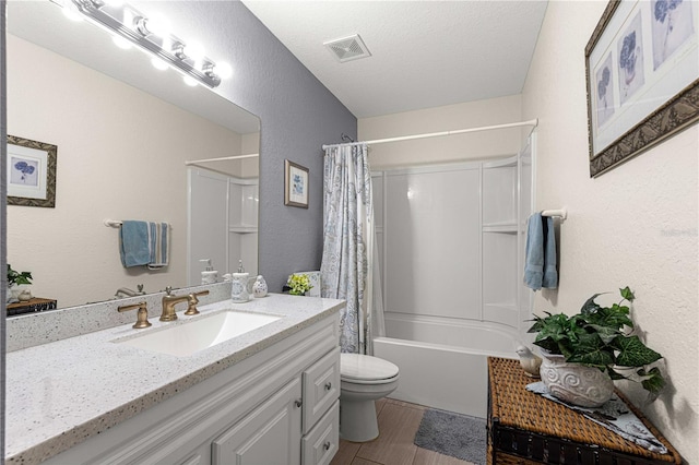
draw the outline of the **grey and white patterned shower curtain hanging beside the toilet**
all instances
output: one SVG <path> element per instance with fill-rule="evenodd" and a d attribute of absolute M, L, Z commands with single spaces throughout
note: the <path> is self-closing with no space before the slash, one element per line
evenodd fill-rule
<path fill-rule="evenodd" d="M 371 355 L 383 315 L 375 295 L 380 286 L 367 145 L 327 148 L 323 188 L 321 295 L 347 302 L 340 315 L 341 350 Z"/>

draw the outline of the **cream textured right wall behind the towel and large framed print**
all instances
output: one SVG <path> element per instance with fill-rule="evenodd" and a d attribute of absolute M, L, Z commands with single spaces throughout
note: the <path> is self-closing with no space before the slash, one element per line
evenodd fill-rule
<path fill-rule="evenodd" d="M 537 293 L 535 309 L 574 313 L 595 293 L 630 286 L 637 326 L 665 357 L 670 385 L 651 405 L 636 385 L 625 391 L 697 464 L 699 128 L 590 179 L 584 47 L 606 4 L 549 3 L 523 92 L 524 118 L 540 119 L 537 210 L 569 212 L 559 288 Z"/>

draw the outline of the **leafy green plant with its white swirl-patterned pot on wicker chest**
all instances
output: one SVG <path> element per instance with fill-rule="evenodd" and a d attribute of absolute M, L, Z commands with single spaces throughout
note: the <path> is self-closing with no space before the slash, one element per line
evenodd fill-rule
<path fill-rule="evenodd" d="M 665 385 L 657 367 L 662 356 L 633 334 L 629 307 L 633 293 L 619 289 L 621 301 L 612 307 L 590 297 L 580 313 L 534 317 L 530 333 L 542 348 L 541 377 L 552 395 L 582 407 L 597 407 L 612 397 L 613 380 L 640 382 L 652 395 Z"/>

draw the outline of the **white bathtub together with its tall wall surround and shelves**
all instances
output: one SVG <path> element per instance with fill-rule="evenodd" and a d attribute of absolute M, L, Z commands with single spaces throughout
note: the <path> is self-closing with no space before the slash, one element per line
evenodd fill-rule
<path fill-rule="evenodd" d="M 516 357 L 535 138 L 498 160 L 374 175 L 391 397 L 485 418 L 488 355 Z"/>

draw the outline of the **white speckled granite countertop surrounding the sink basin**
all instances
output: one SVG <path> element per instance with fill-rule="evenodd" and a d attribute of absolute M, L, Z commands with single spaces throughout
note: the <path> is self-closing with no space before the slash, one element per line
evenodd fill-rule
<path fill-rule="evenodd" d="M 269 295 L 178 312 L 176 322 L 131 324 L 7 354 L 5 461 L 38 463 L 131 418 L 272 344 L 336 312 L 344 301 Z M 282 315 L 277 321 L 188 357 L 115 344 L 226 309 Z M 133 312 L 135 321 L 135 312 Z"/>

